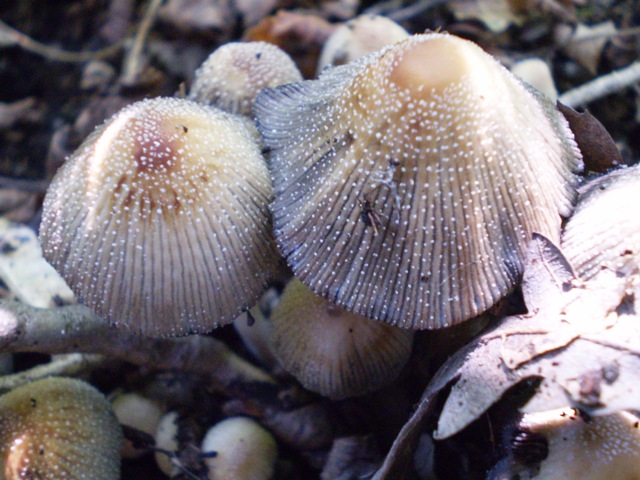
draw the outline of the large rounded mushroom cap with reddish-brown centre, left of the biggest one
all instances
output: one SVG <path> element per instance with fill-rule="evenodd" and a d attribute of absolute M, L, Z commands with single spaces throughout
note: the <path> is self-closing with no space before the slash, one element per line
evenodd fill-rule
<path fill-rule="evenodd" d="M 251 306 L 275 275 L 271 198 L 248 121 L 189 100 L 144 100 L 58 171 L 42 248 L 79 300 L 116 326 L 205 332 Z"/>

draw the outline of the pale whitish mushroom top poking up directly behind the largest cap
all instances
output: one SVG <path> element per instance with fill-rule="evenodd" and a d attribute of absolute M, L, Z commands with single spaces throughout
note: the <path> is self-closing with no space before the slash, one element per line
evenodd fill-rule
<path fill-rule="evenodd" d="M 352 62 L 408 36 L 409 32 L 390 18 L 360 15 L 340 25 L 327 38 L 320 53 L 317 71 L 322 72 L 330 65 Z"/>

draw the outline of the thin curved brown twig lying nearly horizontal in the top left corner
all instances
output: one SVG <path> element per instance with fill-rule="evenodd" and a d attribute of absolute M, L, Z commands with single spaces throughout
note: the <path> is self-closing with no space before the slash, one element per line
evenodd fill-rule
<path fill-rule="evenodd" d="M 0 20 L 0 47 L 18 45 L 28 52 L 35 53 L 41 57 L 58 62 L 78 63 L 88 62 L 99 58 L 110 57 L 120 50 L 122 43 L 118 42 L 102 50 L 89 52 L 69 52 L 60 48 L 51 47 L 44 43 L 33 40 L 31 37 L 11 28 Z"/>

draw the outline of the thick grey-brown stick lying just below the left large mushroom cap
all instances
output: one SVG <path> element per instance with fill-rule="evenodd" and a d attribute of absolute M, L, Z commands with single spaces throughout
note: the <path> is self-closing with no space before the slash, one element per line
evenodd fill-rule
<path fill-rule="evenodd" d="M 271 376 L 219 340 L 198 335 L 154 339 L 128 334 L 109 327 L 83 305 L 41 309 L 3 300 L 0 325 L 4 352 L 99 353 L 147 368 L 198 373 L 222 392 L 246 383 L 275 384 Z"/>

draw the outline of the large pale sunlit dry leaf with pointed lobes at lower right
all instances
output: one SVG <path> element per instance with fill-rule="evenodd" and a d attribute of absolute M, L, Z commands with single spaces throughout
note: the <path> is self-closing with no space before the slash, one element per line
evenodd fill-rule
<path fill-rule="evenodd" d="M 375 478 L 406 468 L 436 397 L 449 385 L 437 440 L 460 432 L 511 387 L 534 377 L 542 384 L 526 412 L 567 405 L 593 416 L 640 409 L 638 271 L 603 272 L 582 283 L 560 249 L 535 235 L 522 288 L 530 313 L 505 318 L 445 362 Z"/>

